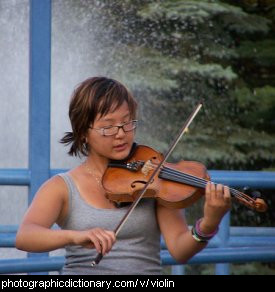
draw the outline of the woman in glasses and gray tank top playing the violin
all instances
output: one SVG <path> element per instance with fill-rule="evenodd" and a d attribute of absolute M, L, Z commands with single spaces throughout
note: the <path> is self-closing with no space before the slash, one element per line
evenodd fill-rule
<path fill-rule="evenodd" d="M 18 230 L 18 249 L 45 252 L 64 247 L 63 274 L 161 274 L 160 234 L 180 262 L 207 245 L 231 203 L 227 187 L 210 183 L 204 216 L 192 231 L 181 210 L 143 199 L 115 238 L 113 230 L 128 206 L 119 207 L 106 198 L 101 178 L 110 159 L 129 155 L 136 110 L 133 96 L 116 80 L 94 77 L 76 88 L 69 110 L 72 132 L 61 142 L 71 144 L 70 155 L 86 160 L 38 190 Z M 60 229 L 51 229 L 54 223 Z M 104 258 L 91 267 L 97 253 Z"/>

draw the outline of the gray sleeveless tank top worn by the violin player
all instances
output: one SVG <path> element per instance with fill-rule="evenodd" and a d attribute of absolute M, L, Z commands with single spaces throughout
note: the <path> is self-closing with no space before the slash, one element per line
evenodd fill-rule
<path fill-rule="evenodd" d="M 59 174 L 69 190 L 69 212 L 61 226 L 66 230 L 86 230 L 100 227 L 114 230 L 128 207 L 99 209 L 80 196 L 68 173 Z M 65 247 L 65 275 L 160 275 L 160 231 L 153 199 L 142 199 L 118 234 L 112 250 L 101 262 L 91 267 L 95 249 L 68 245 Z"/>

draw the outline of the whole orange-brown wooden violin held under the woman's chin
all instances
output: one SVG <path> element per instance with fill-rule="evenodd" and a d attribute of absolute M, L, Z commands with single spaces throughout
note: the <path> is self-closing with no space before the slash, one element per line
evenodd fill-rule
<path fill-rule="evenodd" d="M 130 157 L 123 161 L 111 161 L 106 169 L 102 185 L 109 200 L 122 203 L 134 202 L 148 182 L 163 155 L 144 145 L 134 145 Z M 206 167 L 196 161 L 165 162 L 149 184 L 143 198 L 155 198 L 168 208 L 186 208 L 205 193 L 210 176 Z M 236 201 L 258 212 L 265 212 L 267 205 L 260 198 L 229 188 Z"/>

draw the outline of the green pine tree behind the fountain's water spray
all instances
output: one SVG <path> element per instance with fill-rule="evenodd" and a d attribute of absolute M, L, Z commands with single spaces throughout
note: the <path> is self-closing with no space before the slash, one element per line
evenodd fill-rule
<path fill-rule="evenodd" d="M 140 101 L 139 141 L 166 150 L 194 105 L 204 99 L 204 111 L 173 158 L 220 169 L 274 167 L 273 4 L 71 3 L 92 30 L 101 72 L 126 83 Z"/>

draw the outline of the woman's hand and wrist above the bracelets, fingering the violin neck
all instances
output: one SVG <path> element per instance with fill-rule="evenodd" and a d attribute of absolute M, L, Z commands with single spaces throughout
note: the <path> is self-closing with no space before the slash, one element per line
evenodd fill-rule
<path fill-rule="evenodd" d="M 205 190 L 204 217 L 200 228 L 204 233 L 211 233 L 217 229 L 225 213 L 231 207 L 229 188 L 221 184 L 208 182 Z"/>

